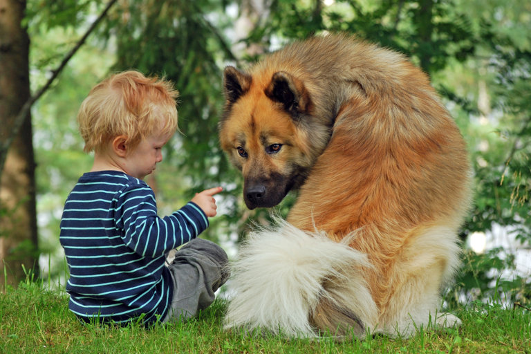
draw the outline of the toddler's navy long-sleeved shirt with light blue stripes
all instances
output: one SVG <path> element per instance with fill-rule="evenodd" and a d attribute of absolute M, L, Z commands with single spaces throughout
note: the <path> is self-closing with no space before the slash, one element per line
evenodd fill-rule
<path fill-rule="evenodd" d="M 158 217 L 153 190 L 138 178 L 84 174 L 66 199 L 59 235 L 70 270 L 68 308 L 85 321 L 163 319 L 173 295 L 165 254 L 207 226 L 192 202 Z"/>

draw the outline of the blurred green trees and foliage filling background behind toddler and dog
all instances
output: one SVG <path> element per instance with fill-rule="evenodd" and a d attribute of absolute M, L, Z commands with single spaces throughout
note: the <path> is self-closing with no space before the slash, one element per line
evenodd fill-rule
<path fill-rule="evenodd" d="M 32 91 L 105 4 L 28 1 Z M 448 290 L 447 305 L 494 295 L 528 304 L 529 265 L 517 271 L 514 252 L 531 245 L 531 3 L 525 0 L 118 1 L 32 109 L 41 276 L 64 283 L 59 220 L 68 192 L 91 166 L 75 115 L 96 82 L 136 68 L 176 84 L 183 133 L 167 145 L 165 161 L 148 183 L 161 214 L 205 187 L 225 187 L 221 215 L 205 237 L 232 249 L 251 221 L 268 221 L 268 211 L 245 209 L 241 179 L 218 147 L 223 67 L 245 66 L 293 39 L 337 30 L 411 57 L 429 73 L 468 142 L 476 195 L 461 232 L 463 270 Z M 285 214 L 290 203 L 292 197 L 277 211 Z M 482 254 L 467 248 L 474 232 L 490 240 L 496 230 L 510 247 Z"/>

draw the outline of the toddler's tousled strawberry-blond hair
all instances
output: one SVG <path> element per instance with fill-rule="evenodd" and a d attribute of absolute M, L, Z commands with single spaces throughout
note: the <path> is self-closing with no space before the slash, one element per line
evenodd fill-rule
<path fill-rule="evenodd" d="M 161 127 L 162 134 L 175 133 L 177 97 L 178 91 L 164 78 L 138 71 L 111 75 L 92 88 L 77 113 L 84 151 L 100 151 L 122 135 L 134 149 Z"/>

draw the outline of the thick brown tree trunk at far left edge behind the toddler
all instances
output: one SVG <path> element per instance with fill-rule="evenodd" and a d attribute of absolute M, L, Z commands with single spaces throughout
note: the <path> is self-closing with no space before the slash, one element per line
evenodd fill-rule
<path fill-rule="evenodd" d="M 6 141 L 15 117 L 30 98 L 29 44 L 22 19 L 26 1 L 0 0 L 0 140 Z M 6 158 L 0 180 L 0 265 L 7 283 L 38 272 L 35 159 L 30 113 Z M 24 268 L 23 268 L 24 265 Z M 3 288 L 4 281 L 0 282 Z"/>

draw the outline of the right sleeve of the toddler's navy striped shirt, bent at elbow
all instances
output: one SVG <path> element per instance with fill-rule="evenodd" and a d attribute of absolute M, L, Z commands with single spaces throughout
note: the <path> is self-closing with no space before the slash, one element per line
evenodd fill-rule
<path fill-rule="evenodd" d="M 161 257 L 196 238 L 209 225 L 193 202 L 160 218 L 153 190 L 145 183 L 129 185 L 115 196 L 111 212 L 124 243 L 142 257 Z"/>

